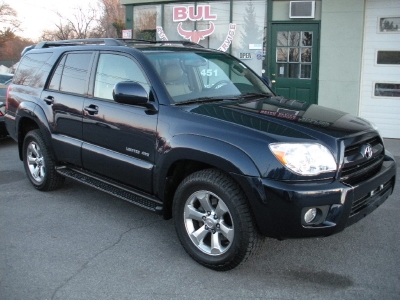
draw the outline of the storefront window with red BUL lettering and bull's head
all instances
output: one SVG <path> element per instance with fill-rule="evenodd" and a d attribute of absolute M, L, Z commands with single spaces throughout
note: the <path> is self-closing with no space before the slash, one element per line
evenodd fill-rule
<path fill-rule="evenodd" d="M 230 52 L 261 75 L 266 10 L 266 0 L 138 5 L 133 10 L 133 38 L 187 40 Z"/>

